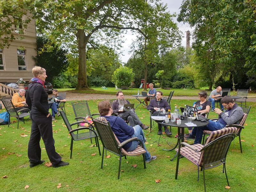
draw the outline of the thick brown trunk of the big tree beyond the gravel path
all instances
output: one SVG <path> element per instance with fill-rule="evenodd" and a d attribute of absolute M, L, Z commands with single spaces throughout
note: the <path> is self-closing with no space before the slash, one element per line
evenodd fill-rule
<path fill-rule="evenodd" d="M 88 89 L 86 74 L 86 45 L 87 39 L 84 30 L 78 29 L 78 82 L 77 89 Z"/>

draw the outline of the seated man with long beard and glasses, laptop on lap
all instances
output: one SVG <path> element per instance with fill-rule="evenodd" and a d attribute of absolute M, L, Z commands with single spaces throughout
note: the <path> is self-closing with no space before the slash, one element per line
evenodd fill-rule
<path fill-rule="evenodd" d="M 127 120 L 129 122 L 131 127 L 134 127 L 135 125 L 139 125 L 144 130 L 148 129 L 149 126 L 142 124 L 138 116 L 132 109 L 123 111 L 124 104 L 130 104 L 128 100 L 124 99 L 123 92 L 121 91 L 117 92 L 116 96 L 117 96 L 117 101 L 113 102 L 113 106 L 112 106 L 113 113 L 118 113 L 123 120 L 125 121 Z"/>

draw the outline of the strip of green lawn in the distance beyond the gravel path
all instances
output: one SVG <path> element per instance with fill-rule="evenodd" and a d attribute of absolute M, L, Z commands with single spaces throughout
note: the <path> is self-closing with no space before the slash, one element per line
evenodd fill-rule
<path fill-rule="evenodd" d="M 62 89 L 60 89 L 62 90 Z M 149 90 L 149 89 L 148 89 Z M 174 91 L 173 96 L 197 96 L 198 92 L 205 90 L 205 89 L 170 89 L 170 90 L 164 90 L 164 89 L 157 89 L 158 91 L 163 92 L 164 96 L 169 96 L 170 91 Z M 59 91 L 59 90 L 58 90 Z M 64 91 L 64 90 L 63 90 Z M 65 90 L 67 91 L 67 90 Z M 98 93 L 98 94 L 115 94 L 118 90 L 115 90 L 114 87 L 92 87 L 91 90 L 72 90 L 72 92 L 79 92 L 79 93 Z M 125 94 L 137 94 L 138 88 L 128 89 L 128 90 L 122 90 Z M 139 89 L 140 93 L 143 91 L 143 89 Z M 208 95 L 210 95 L 211 91 L 207 91 Z M 236 95 L 236 92 L 231 92 L 231 95 Z M 256 93 L 248 93 L 248 97 L 256 97 Z"/>

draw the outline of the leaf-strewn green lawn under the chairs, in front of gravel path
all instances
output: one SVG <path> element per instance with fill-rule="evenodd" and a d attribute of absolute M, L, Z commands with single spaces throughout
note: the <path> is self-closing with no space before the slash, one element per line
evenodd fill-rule
<path fill-rule="evenodd" d="M 189 91 L 187 93 L 189 94 Z M 97 112 L 99 101 L 88 101 L 92 113 Z M 137 103 L 136 100 L 130 101 Z M 181 107 L 193 102 L 193 100 L 172 100 L 172 111 L 174 104 Z M 231 187 L 228 191 L 255 191 L 256 188 L 256 118 L 254 114 L 256 103 L 248 102 L 247 104 L 252 105 L 252 109 L 245 122 L 245 129 L 241 133 L 242 140 L 244 140 L 242 142 L 243 153 L 240 153 L 238 137 L 236 137 L 235 148 L 233 148 L 232 143 L 227 154 L 227 176 Z M 0 113 L 3 111 L 1 110 Z M 71 102 L 67 102 L 66 112 L 70 122 L 74 122 Z M 149 113 L 145 108 L 139 106 L 136 113 L 143 123 L 149 124 Z M 210 112 L 209 117 L 215 118 L 217 116 Z M 111 157 L 104 158 L 103 169 L 100 169 L 101 156 L 99 156 L 97 147 L 91 147 L 92 144 L 89 140 L 74 142 L 73 155 L 70 160 L 70 138 L 68 138 L 70 136 L 62 118 L 59 117 L 56 120 L 57 122 L 53 122 L 56 151 L 61 154 L 63 161 L 70 163 L 70 165 L 60 168 L 44 165 L 29 168 L 27 146 L 30 121 L 26 121 L 25 124 L 21 123 L 19 129 L 17 129 L 16 122 L 10 127 L 0 125 L 0 179 L 5 175 L 7 176 L 7 178 L 1 179 L 1 191 L 203 191 L 202 172 L 200 172 L 199 182 L 197 182 L 197 168 L 194 164 L 185 158 L 181 159 L 178 180 L 175 180 L 177 159 L 173 162 L 170 161 L 175 152 L 161 150 L 162 148 L 170 148 L 167 142 L 175 143 L 177 141 L 174 138 L 177 128 L 172 128 L 173 135 L 171 137 L 160 138 L 161 146 L 158 146 L 159 136 L 156 134 L 156 124 L 154 124 L 152 133 L 145 131 L 149 142 L 146 144 L 146 148 L 152 155 L 156 155 L 157 159 L 146 164 L 146 169 L 144 169 L 142 156 L 127 157 L 127 160 L 122 158 L 121 170 L 123 172 L 120 174 L 120 180 L 117 180 L 119 157 L 107 153 Z M 28 136 L 21 137 L 22 133 Z M 192 141 L 188 142 L 192 143 Z M 100 147 L 102 149 L 102 145 Z M 45 148 L 43 141 L 41 141 L 41 148 Z M 96 155 L 91 156 L 93 153 Z M 42 159 L 49 162 L 44 149 L 42 150 Z M 133 168 L 133 164 L 137 164 L 137 167 Z M 225 189 L 227 182 L 225 174 L 222 174 L 221 166 L 206 170 L 205 175 L 207 191 L 227 191 Z M 160 179 L 161 182 L 156 184 L 156 179 Z M 62 187 L 57 189 L 59 183 L 62 184 Z M 29 185 L 29 188 L 24 189 L 26 185 Z"/>

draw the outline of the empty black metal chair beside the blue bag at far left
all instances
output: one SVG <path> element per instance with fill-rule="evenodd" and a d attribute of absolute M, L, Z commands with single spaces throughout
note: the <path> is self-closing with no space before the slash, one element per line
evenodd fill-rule
<path fill-rule="evenodd" d="M 23 111 L 28 111 L 29 109 L 24 108 L 24 109 L 17 110 L 17 108 L 14 107 L 14 105 L 12 103 L 12 100 L 3 99 L 2 103 L 4 104 L 4 107 L 5 107 L 6 111 L 9 113 L 8 127 L 10 125 L 10 118 L 15 117 L 18 121 L 18 124 L 17 124 L 17 129 L 18 129 L 19 128 L 19 122 L 23 121 L 23 123 L 25 123 L 24 117 L 30 115 L 30 113 L 27 113 L 27 112 L 22 113 L 22 112 Z M 30 110 L 29 110 L 29 112 L 30 112 Z"/>

